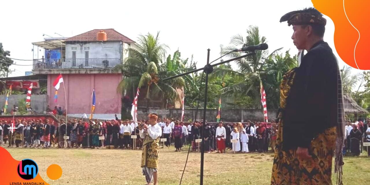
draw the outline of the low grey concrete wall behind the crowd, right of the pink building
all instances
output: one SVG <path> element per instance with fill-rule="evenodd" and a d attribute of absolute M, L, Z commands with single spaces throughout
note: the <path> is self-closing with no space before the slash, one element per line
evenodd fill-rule
<path fill-rule="evenodd" d="M 146 108 L 138 107 L 138 119 L 143 120 L 147 119 L 149 113 L 156 113 L 160 118 L 174 118 L 180 120 L 181 118 L 181 109 L 155 109 L 149 108 L 147 111 Z M 276 109 L 268 109 L 269 120 L 275 119 Z M 203 109 L 200 108 L 198 113 L 196 109 L 185 109 L 184 112 L 184 121 L 189 119 L 203 119 Z M 206 110 L 206 120 L 209 122 L 216 121 L 218 110 L 208 109 Z M 243 122 L 243 121 L 263 121 L 263 110 L 256 109 L 230 109 L 230 110 L 221 110 L 221 121 L 230 121 L 230 122 Z"/>

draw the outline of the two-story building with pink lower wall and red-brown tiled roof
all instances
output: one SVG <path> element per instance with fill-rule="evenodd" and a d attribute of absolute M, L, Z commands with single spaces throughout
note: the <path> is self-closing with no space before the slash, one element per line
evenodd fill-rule
<path fill-rule="evenodd" d="M 117 85 L 122 74 L 114 67 L 128 57 L 126 49 L 134 47 L 134 41 L 114 29 L 95 29 L 70 38 L 33 44 L 45 49 L 45 57 L 33 62 L 33 74 L 47 74 L 50 107 L 67 108 L 68 116 L 89 115 L 91 92 L 95 88 L 93 118 L 112 119 L 114 114 L 120 117 L 122 95 L 117 92 Z M 59 74 L 63 75 L 64 84 L 58 90 L 55 102 L 53 82 Z"/>

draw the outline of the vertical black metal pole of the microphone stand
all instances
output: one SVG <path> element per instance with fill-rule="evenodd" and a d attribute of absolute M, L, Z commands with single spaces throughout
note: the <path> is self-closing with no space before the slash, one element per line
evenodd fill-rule
<path fill-rule="evenodd" d="M 207 65 L 209 65 L 209 49 L 207 50 Z M 203 185 L 203 168 L 204 168 L 204 129 L 206 125 L 206 110 L 207 110 L 207 91 L 208 91 L 208 72 L 206 72 L 205 79 L 205 91 L 204 91 L 204 110 L 203 110 L 203 126 L 202 126 L 202 147 L 201 147 L 201 182 L 200 185 Z"/>

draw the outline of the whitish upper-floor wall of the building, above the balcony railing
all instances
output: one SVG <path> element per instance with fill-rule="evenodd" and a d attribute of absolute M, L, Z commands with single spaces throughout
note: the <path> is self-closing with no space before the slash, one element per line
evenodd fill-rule
<path fill-rule="evenodd" d="M 76 58 L 85 58 L 85 51 L 89 51 L 89 58 L 120 58 L 122 54 L 121 41 L 96 41 L 89 43 L 66 44 L 65 59 L 72 59 L 72 51 L 76 51 Z"/>

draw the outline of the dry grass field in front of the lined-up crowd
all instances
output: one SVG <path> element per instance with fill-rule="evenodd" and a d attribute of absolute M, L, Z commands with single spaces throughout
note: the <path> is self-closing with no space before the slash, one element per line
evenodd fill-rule
<path fill-rule="evenodd" d="M 3 146 L 5 147 L 5 146 Z M 122 149 L 21 149 L 7 148 L 13 158 L 31 158 L 39 167 L 41 177 L 51 185 L 143 185 L 139 150 Z M 186 148 L 187 151 L 187 148 Z M 229 152 L 229 151 L 228 151 Z M 160 149 L 159 184 L 178 185 L 187 152 L 174 148 Z M 267 185 L 270 181 L 272 153 L 258 154 L 205 154 L 205 185 Z M 370 158 L 344 158 L 344 184 L 363 185 L 370 182 Z M 46 169 L 58 164 L 63 175 L 50 180 Z M 183 185 L 199 184 L 200 153 L 190 153 Z M 335 184 L 335 174 L 333 174 Z"/>

